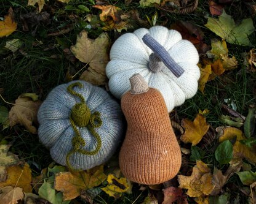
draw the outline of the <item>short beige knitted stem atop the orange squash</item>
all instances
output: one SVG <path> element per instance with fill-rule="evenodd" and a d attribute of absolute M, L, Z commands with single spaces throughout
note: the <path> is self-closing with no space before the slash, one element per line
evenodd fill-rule
<path fill-rule="evenodd" d="M 142 94 L 150 89 L 148 87 L 148 83 L 146 83 L 145 79 L 140 74 L 132 75 L 132 77 L 130 77 L 129 80 L 131 86 L 131 94 Z"/>

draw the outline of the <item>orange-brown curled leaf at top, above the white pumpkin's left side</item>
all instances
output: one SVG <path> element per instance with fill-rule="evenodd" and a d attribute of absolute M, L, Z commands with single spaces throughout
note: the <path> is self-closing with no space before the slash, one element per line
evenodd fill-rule
<path fill-rule="evenodd" d="M 108 17 L 111 17 L 114 22 L 120 22 L 121 21 L 121 15 L 124 13 L 119 7 L 107 5 L 107 6 L 100 6 L 95 5 L 94 8 L 102 10 L 102 13 L 100 13 L 100 20 L 106 21 L 108 20 Z"/>

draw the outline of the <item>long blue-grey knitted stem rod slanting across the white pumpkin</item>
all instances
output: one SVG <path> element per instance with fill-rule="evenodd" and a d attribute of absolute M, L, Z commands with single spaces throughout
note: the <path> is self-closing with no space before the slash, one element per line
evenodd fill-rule
<path fill-rule="evenodd" d="M 154 51 L 158 58 L 160 58 L 162 62 L 164 62 L 164 64 L 175 75 L 175 77 L 180 77 L 183 74 L 183 72 L 185 72 L 185 70 L 182 69 L 182 67 L 180 67 L 174 61 L 174 59 L 172 59 L 167 50 L 164 47 L 162 47 L 162 45 L 160 45 L 158 41 L 153 39 L 153 37 L 151 37 L 150 34 L 145 34 L 142 37 L 142 40 L 151 50 Z"/>

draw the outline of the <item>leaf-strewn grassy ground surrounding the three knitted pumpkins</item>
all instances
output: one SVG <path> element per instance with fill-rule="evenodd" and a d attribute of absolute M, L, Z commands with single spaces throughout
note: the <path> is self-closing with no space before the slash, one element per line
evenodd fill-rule
<path fill-rule="evenodd" d="M 194 2 L 0 1 L 1 204 L 256 203 L 256 3 Z M 182 149 L 178 175 L 132 183 L 119 151 L 83 172 L 56 164 L 37 135 L 41 102 L 71 80 L 108 91 L 113 42 L 155 25 L 179 31 L 200 56 L 198 93 L 170 113 Z"/>

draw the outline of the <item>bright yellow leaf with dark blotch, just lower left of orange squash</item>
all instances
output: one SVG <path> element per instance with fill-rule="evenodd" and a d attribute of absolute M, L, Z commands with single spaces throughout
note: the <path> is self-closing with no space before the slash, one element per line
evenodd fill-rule
<path fill-rule="evenodd" d="M 113 174 L 108 175 L 108 186 L 102 187 L 102 191 L 106 192 L 106 194 L 119 198 L 123 192 L 129 190 L 129 184 L 126 178 L 116 178 Z"/>

